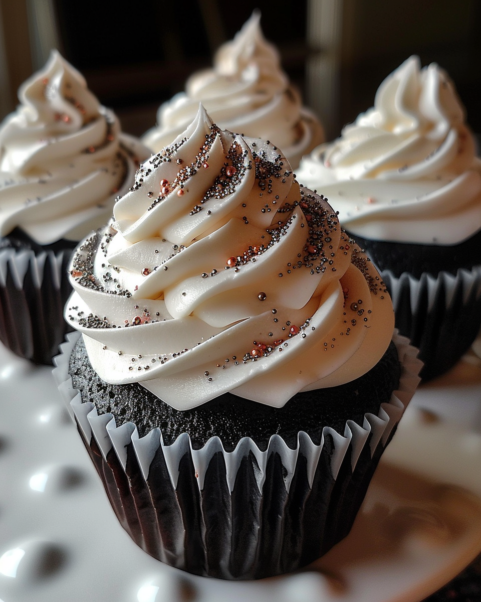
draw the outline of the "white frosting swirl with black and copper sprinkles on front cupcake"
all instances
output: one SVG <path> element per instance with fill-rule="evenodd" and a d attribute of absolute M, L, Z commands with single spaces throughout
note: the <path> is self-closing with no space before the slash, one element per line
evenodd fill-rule
<path fill-rule="evenodd" d="M 106 382 L 176 409 L 226 391 L 280 407 L 364 374 L 390 343 L 384 284 L 326 199 L 203 107 L 114 219 L 78 247 L 66 306 Z"/>

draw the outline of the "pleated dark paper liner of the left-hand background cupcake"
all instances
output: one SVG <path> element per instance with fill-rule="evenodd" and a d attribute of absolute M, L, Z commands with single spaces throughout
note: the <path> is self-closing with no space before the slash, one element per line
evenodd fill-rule
<path fill-rule="evenodd" d="M 36 364 L 52 364 L 72 328 L 63 318 L 72 250 L 0 250 L 0 340 Z"/>

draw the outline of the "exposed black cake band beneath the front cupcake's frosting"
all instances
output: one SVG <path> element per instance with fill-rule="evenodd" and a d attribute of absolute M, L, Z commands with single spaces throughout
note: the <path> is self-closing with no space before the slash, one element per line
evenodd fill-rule
<path fill-rule="evenodd" d="M 114 415 L 117 426 L 133 422 L 139 436 L 159 427 L 166 445 L 186 432 L 195 449 L 216 435 L 225 451 L 231 452 L 242 437 L 250 437 L 265 450 L 271 435 L 277 434 L 290 448 L 295 448 L 301 430 L 319 445 L 325 426 L 340 435 L 348 420 L 362 426 L 364 414 L 377 415 L 381 403 L 390 401 L 391 393 L 399 385 L 400 364 L 391 342 L 378 364 L 360 378 L 336 387 L 297 393 L 282 408 L 224 393 L 185 411 L 177 411 L 138 383 L 104 382 L 91 367 L 82 338 L 70 356 L 69 372 L 73 386 L 81 391 L 82 401 L 93 402 L 99 414 Z"/>

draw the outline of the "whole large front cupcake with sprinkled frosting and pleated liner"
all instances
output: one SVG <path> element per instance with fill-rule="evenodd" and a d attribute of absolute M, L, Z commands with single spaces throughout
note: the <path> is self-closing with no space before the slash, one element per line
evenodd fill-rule
<path fill-rule="evenodd" d="M 349 532 L 419 364 L 373 264 L 272 144 L 201 107 L 71 274 L 81 337 L 54 373 L 138 545 L 257 579 Z"/>

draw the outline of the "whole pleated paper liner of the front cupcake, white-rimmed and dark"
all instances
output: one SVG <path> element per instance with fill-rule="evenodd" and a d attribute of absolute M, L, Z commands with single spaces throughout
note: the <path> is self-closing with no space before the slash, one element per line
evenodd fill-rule
<path fill-rule="evenodd" d="M 250 438 L 225 452 L 218 437 L 196 450 L 186 433 L 171 445 L 159 429 L 139 438 L 134 424 L 117 427 L 82 403 L 68 373 L 77 337 L 61 346 L 54 375 L 120 523 L 157 559 L 223 579 L 292 571 L 347 535 L 419 380 L 417 350 L 395 334 L 399 389 L 362 426 L 324 427 L 320 445 L 299 432 L 295 449 L 272 435 L 264 452 Z"/>

